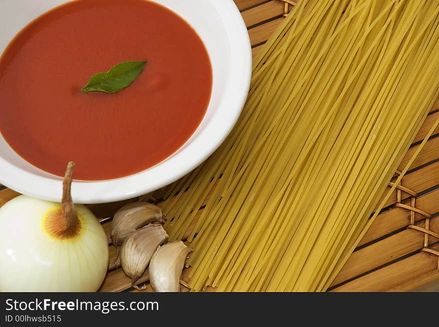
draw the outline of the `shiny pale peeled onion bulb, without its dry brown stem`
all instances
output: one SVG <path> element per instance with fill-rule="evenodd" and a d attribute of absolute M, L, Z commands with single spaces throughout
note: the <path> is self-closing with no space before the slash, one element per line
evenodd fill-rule
<path fill-rule="evenodd" d="M 96 217 L 75 205 L 81 227 L 60 239 L 44 228 L 60 204 L 18 196 L 0 208 L 1 292 L 95 292 L 108 268 L 108 242 Z"/>

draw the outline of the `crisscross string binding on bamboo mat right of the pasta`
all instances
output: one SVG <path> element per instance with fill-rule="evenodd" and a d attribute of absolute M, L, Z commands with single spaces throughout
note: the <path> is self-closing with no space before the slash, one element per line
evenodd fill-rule
<path fill-rule="evenodd" d="M 397 171 L 396 174 L 401 175 L 401 172 Z M 432 215 L 424 210 L 416 208 L 416 199 L 418 197 L 418 193 L 412 191 L 411 189 L 409 189 L 407 187 L 404 187 L 402 185 L 402 181 L 400 184 L 398 184 L 396 186 L 395 186 L 395 183 L 390 182 L 389 186 L 396 187 L 396 190 L 397 190 L 397 203 L 395 204 L 395 207 L 410 211 L 410 223 L 407 226 L 407 228 L 417 230 L 419 232 L 424 233 L 424 247 L 421 249 L 421 251 L 438 257 L 437 269 L 439 270 L 439 251 L 435 250 L 435 249 L 430 249 L 430 247 L 429 247 L 430 246 L 430 240 L 429 240 L 430 236 L 433 236 L 433 237 L 439 239 L 439 233 L 430 230 L 430 219 L 432 219 Z M 411 195 L 410 205 L 401 203 L 402 192 L 405 192 L 405 193 Z M 415 225 L 415 213 L 418 213 L 424 217 L 425 227 Z"/>

